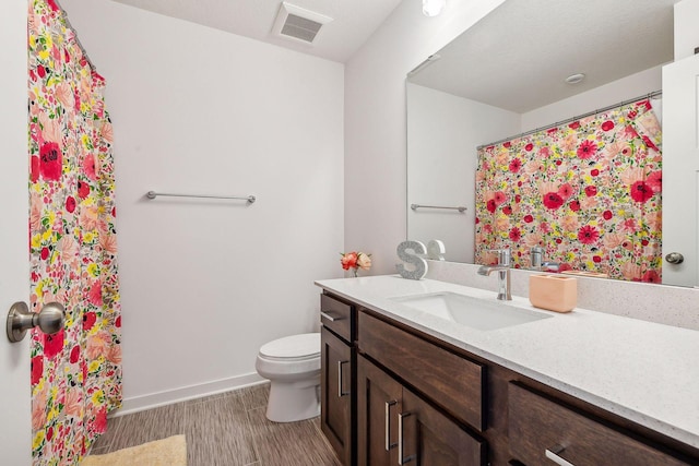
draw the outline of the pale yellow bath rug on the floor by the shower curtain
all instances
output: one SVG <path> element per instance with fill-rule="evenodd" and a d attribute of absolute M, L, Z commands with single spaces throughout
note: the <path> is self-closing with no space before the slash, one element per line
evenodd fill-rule
<path fill-rule="evenodd" d="M 85 456 L 81 466 L 187 466 L 185 435 L 156 440 L 106 455 Z"/>

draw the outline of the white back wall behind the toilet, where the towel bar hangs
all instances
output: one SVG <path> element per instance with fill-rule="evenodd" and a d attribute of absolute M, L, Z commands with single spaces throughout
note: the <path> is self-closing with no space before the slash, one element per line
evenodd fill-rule
<path fill-rule="evenodd" d="M 342 276 L 343 65 L 111 1 L 61 3 L 115 128 L 125 410 L 259 380 L 259 347 L 318 331 L 313 279 Z"/>

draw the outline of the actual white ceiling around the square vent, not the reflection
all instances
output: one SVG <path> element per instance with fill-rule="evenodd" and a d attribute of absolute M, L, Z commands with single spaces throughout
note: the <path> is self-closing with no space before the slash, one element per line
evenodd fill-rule
<path fill-rule="evenodd" d="M 282 0 L 115 1 L 344 63 L 402 0 L 287 0 L 333 19 L 320 29 L 313 45 L 272 34 Z M 418 0 L 415 8 L 422 8 Z"/>

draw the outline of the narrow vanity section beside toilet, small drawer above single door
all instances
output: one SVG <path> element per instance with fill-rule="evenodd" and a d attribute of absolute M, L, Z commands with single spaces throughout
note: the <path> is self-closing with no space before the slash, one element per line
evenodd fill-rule
<path fill-rule="evenodd" d="M 320 428 L 348 466 L 355 453 L 356 307 L 329 295 L 320 301 Z"/>

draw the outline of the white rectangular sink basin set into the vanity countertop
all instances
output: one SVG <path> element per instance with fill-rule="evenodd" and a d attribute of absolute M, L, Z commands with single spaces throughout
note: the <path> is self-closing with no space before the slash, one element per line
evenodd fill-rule
<path fill-rule="evenodd" d="M 401 296 L 391 299 L 408 308 L 484 331 L 520 325 L 553 316 L 530 309 L 450 291 Z"/>

